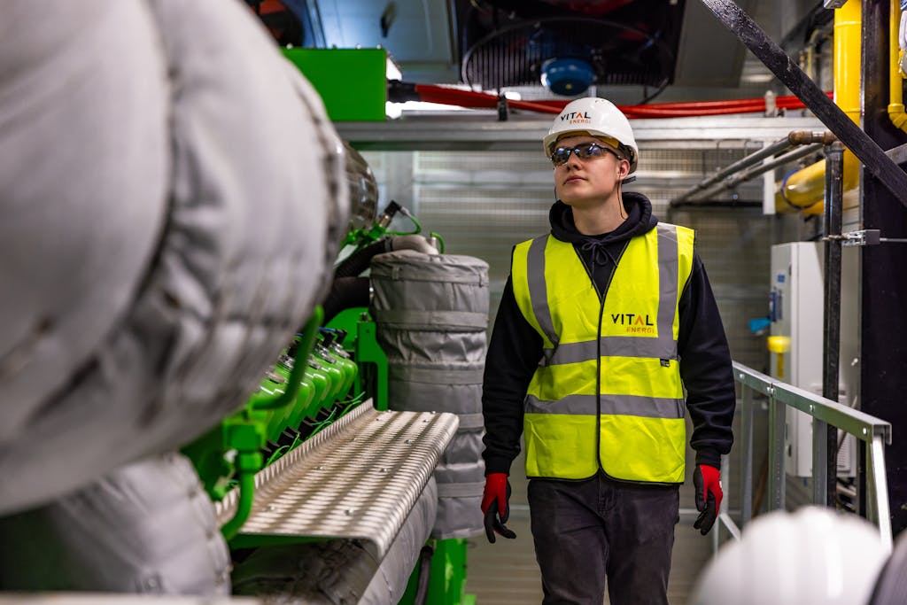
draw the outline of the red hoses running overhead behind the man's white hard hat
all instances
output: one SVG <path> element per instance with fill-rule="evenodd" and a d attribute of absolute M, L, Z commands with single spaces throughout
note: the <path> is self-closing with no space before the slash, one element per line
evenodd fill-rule
<path fill-rule="evenodd" d="M 461 107 L 494 108 L 499 98 L 490 93 L 462 91 L 431 84 L 415 84 L 415 92 L 424 102 L 459 105 Z M 832 96 L 833 93 L 826 93 Z M 506 99 L 511 109 L 531 112 L 560 113 L 569 101 L 513 101 Z M 804 109 L 805 105 L 795 96 L 782 96 L 775 99 L 778 109 Z M 753 99 L 732 99 L 728 101 L 689 101 L 663 102 L 645 105 L 618 105 L 620 111 L 628 118 L 688 118 L 705 115 L 726 115 L 728 113 L 756 113 L 766 111 L 766 100 L 762 97 Z"/>

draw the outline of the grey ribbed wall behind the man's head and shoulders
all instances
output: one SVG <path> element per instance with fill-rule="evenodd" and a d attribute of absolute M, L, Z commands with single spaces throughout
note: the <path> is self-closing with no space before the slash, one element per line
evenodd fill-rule
<path fill-rule="evenodd" d="M 647 195 L 659 219 L 697 229 L 697 252 L 716 291 L 731 354 L 747 366 L 763 369 L 765 339 L 752 335 L 748 322 L 767 314 L 771 218 L 747 208 L 668 211 L 669 200 L 755 151 L 759 144 L 753 142 L 746 149 L 727 141 L 694 150 L 643 147 L 639 181 L 630 183 L 627 190 Z M 541 144 L 538 153 L 365 151 L 363 155 L 384 196 L 379 206 L 391 199 L 401 201 L 414 212 L 424 233 L 441 233 L 448 253 L 488 262 L 493 318 L 513 245 L 549 230 L 554 185 Z M 756 179 L 737 192 L 740 199 L 761 200 L 761 187 L 761 179 Z M 731 199 L 730 192 L 725 199 Z M 402 217 L 392 224 L 392 229 L 410 228 Z"/>

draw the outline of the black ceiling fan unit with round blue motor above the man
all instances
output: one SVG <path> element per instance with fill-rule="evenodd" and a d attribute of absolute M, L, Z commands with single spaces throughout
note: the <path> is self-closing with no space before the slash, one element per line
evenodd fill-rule
<path fill-rule="evenodd" d="M 683 8 L 684 0 L 473 1 L 460 20 L 463 83 L 545 83 L 567 96 L 635 84 L 653 89 L 649 100 L 673 81 Z"/>

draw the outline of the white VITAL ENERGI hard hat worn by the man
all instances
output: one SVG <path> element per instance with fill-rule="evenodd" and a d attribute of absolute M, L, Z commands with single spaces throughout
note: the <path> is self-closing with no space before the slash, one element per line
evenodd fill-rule
<path fill-rule="evenodd" d="M 551 157 L 554 142 L 573 132 L 588 132 L 595 137 L 616 139 L 632 151 L 631 157 L 627 158 L 629 173 L 636 171 L 639 148 L 633 138 L 633 129 L 629 126 L 627 116 L 614 103 L 598 97 L 583 97 L 567 103 L 558 117 L 554 118 L 548 134 L 541 140 L 545 155 Z"/>

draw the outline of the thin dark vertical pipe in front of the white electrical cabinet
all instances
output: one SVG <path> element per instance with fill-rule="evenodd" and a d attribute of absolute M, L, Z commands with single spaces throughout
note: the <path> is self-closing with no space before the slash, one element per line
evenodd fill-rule
<path fill-rule="evenodd" d="M 822 396 L 838 400 L 841 352 L 841 213 L 844 208 L 844 145 L 825 145 L 825 304 Z M 838 429 L 827 425 L 828 506 L 834 508 L 838 482 Z"/>

